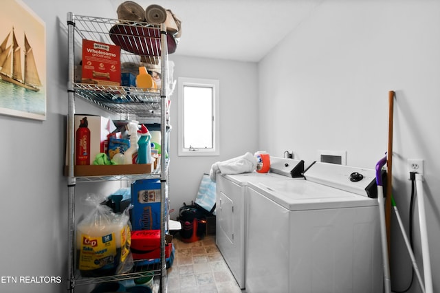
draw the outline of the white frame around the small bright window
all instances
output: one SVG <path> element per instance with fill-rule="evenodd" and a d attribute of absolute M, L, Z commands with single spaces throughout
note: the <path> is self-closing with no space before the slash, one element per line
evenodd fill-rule
<path fill-rule="evenodd" d="M 212 88 L 212 149 L 192 149 L 184 148 L 184 87 L 210 87 Z M 207 78 L 178 78 L 178 155 L 179 156 L 210 156 L 220 155 L 220 123 L 219 123 L 219 80 Z"/>

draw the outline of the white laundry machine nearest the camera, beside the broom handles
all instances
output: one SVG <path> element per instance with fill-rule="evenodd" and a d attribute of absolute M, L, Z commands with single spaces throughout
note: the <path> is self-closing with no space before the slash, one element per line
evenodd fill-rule
<path fill-rule="evenodd" d="M 246 196 L 246 292 L 382 292 L 374 170 L 315 163 Z"/>

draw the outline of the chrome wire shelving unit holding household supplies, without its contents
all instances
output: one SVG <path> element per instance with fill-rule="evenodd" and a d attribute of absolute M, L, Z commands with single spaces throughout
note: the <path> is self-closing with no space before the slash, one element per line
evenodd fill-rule
<path fill-rule="evenodd" d="M 73 14 L 72 14 L 73 15 Z M 98 41 L 101 43 L 113 43 L 110 37 L 110 30 L 113 28 L 114 25 L 118 25 L 122 23 L 119 20 L 116 19 L 104 19 L 101 17 L 85 17 L 80 15 L 74 15 L 73 21 L 69 23 L 69 25 L 73 25 L 74 28 L 74 44 L 72 45 L 75 49 L 80 48 L 82 49 L 82 40 L 83 39 L 89 39 L 91 41 Z M 133 28 L 137 28 L 140 25 L 141 26 L 148 26 L 148 28 L 153 28 L 153 32 L 157 31 L 160 32 L 160 25 L 151 25 L 150 23 L 128 23 L 126 21 L 123 21 L 123 24 Z M 157 36 L 151 35 L 151 36 L 143 36 L 144 40 L 137 41 L 147 42 L 146 39 L 158 39 L 161 41 L 161 35 L 157 34 Z M 141 38 L 142 39 L 142 38 Z M 69 45 L 70 47 L 70 45 Z M 165 45 L 166 47 L 166 45 Z M 155 47 L 157 49 L 157 46 Z M 82 52 L 82 50 L 78 50 L 79 52 Z M 77 52 L 78 52 L 77 51 Z M 154 51 L 154 50 L 153 50 Z M 159 64 L 161 56 L 160 54 L 155 55 L 154 52 L 147 52 L 147 54 L 133 54 L 131 52 L 126 52 L 124 50 L 121 50 L 121 64 L 129 64 L 129 65 L 141 65 L 142 62 L 144 63 L 152 63 L 152 64 Z M 151 54 L 151 55 L 150 55 Z M 80 59 L 80 56 L 77 56 L 74 54 L 74 59 L 76 59 L 77 62 L 75 62 L 76 65 L 79 64 L 78 59 Z M 163 73 L 163 72 L 162 72 Z M 167 80 L 169 77 L 166 78 Z M 162 76 L 162 80 L 164 80 L 164 76 Z M 140 89 L 137 87 L 124 87 L 124 86 L 112 86 L 112 85 L 96 85 L 96 84 L 87 84 L 87 83 L 72 83 L 72 88 L 76 96 L 79 96 L 80 98 L 83 98 L 91 103 L 94 103 L 104 109 L 107 109 L 109 111 L 113 111 L 114 113 L 122 114 L 134 114 L 137 116 L 137 120 L 142 120 L 142 118 L 148 120 L 151 118 L 158 118 L 162 122 L 162 124 L 166 124 L 168 122 L 168 117 L 164 118 L 164 116 L 161 115 L 163 112 L 163 108 L 166 108 L 166 103 L 164 103 L 164 98 L 161 96 L 161 90 L 160 89 Z M 72 91 L 71 91 L 72 92 Z M 72 98 L 70 99 L 72 100 Z M 73 102 L 70 102 L 69 107 L 72 107 Z M 168 116 L 168 113 L 167 115 Z M 162 164 L 161 164 L 162 165 Z M 166 169 L 164 171 L 168 172 L 168 164 L 165 164 L 162 166 L 162 169 Z M 109 181 L 109 180 L 136 180 L 139 179 L 145 179 L 145 177 L 163 177 L 164 171 L 155 170 L 150 175 L 114 175 L 114 176 L 96 176 L 96 177 L 76 177 L 73 180 L 73 183 L 75 182 L 96 182 L 96 181 Z M 73 173 L 73 172 L 72 172 Z M 71 186 L 69 189 L 70 193 L 70 201 L 69 202 L 69 221 L 72 223 L 74 222 L 74 203 L 72 203 L 74 199 L 74 185 Z M 162 192 L 164 193 L 164 191 Z M 164 197 L 164 195 L 162 195 Z M 164 202 L 164 200 L 162 200 Z M 73 227 L 70 227 L 73 229 Z M 74 243 L 75 237 L 74 237 L 74 230 L 71 232 L 71 241 Z M 163 231 L 161 232 L 161 238 L 164 239 L 164 235 L 162 235 Z M 74 248 L 74 244 L 72 245 Z M 161 247 L 162 250 L 162 247 Z M 74 255 L 74 252 L 71 251 L 72 256 Z M 164 257 L 163 252 L 161 252 L 161 259 Z M 74 261 L 75 263 L 75 261 Z M 164 259 L 162 259 L 157 264 L 148 265 L 147 267 L 142 267 L 139 270 L 139 267 L 136 267 L 136 269 L 133 269 L 131 272 L 126 274 L 120 274 L 115 276 L 102 276 L 98 278 L 88 278 L 88 277 L 82 277 L 80 276 L 78 270 L 76 270 L 76 265 L 73 265 L 73 270 L 70 270 L 69 272 L 69 289 L 71 291 L 74 290 L 74 287 L 76 285 L 85 285 L 85 284 L 92 284 L 92 283 L 102 283 L 102 282 L 108 282 L 108 281 L 121 281 L 125 279 L 133 279 L 137 277 L 142 277 L 148 275 L 148 272 L 154 272 L 155 276 L 161 276 L 161 286 L 162 290 L 164 287 L 166 287 L 166 283 L 164 282 L 164 275 L 166 274 L 166 271 L 164 271 Z M 166 291 L 166 290 L 165 290 Z"/>

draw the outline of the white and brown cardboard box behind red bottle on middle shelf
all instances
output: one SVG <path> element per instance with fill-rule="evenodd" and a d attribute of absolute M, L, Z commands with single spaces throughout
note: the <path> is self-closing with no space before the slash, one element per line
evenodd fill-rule
<path fill-rule="evenodd" d="M 109 118 L 94 115 L 75 114 L 75 142 L 76 131 L 80 126 L 81 120 L 85 117 L 87 118 L 88 123 L 87 128 L 90 130 L 90 164 L 93 164 L 98 153 L 107 153 L 107 138 L 111 131 L 115 129 L 115 126 Z"/>

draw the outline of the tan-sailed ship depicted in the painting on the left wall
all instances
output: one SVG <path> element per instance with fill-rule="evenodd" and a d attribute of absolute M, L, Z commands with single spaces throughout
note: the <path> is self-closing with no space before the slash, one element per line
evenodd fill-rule
<path fill-rule="evenodd" d="M 36 63 L 34 59 L 34 53 L 32 47 L 28 42 L 28 38 L 25 36 L 25 63 L 24 63 L 24 75 L 21 69 L 21 47 L 15 37 L 14 28 L 12 28 L 12 52 L 11 46 L 8 46 L 8 39 L 11 33 L 8 33 L 3 43 L 0 45 L 0 77 L 2 80 L 14 83 L 25 89 L 32 91 L 39 91 L 41 87 L 41 81 L 39 73 L 36 69 Z M 7 47 L 8 46 L 8 47 Z"/>

